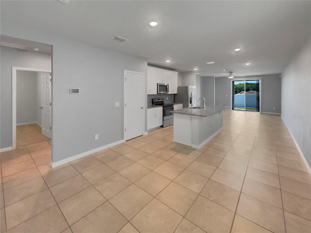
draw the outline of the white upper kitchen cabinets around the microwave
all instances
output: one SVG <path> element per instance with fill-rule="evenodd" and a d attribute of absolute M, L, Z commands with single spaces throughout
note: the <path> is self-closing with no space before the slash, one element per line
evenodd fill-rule
<path fill-rule="evenodd" d="M 147 69 L 147 94 L 157 93 L 157 83 L 169 84 L 169 94 L 177 93 L 177 75 L 178 72 L 148 67 Z"/>

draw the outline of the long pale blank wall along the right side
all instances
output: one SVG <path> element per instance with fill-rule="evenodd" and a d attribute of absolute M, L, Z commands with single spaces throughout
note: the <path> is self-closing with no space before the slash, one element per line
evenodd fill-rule
<path fill-rule="evenodd" d="M 282 72 L 282 118 L 311 166 L 311 38 Z"/>

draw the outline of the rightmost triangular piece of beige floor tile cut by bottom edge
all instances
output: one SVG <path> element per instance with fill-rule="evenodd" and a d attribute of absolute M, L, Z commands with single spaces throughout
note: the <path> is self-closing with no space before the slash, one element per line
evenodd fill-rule
<path fill-rule="evenodd" d="M 231 233 L 271 233 L 271 232 L 260 227 L 254 222 L 247 220 L 246 218 L 240 215 L 235 215 Z"/>

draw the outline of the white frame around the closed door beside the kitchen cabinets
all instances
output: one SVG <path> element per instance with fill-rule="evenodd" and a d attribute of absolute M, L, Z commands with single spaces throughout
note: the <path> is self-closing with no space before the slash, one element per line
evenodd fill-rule
<path fill-rule="evenodd" d="M 144 135 L 146 132 L 146 127 L 145 127 L 145 118 L 146 118 L 146 79 L 145 79 L 145 73 L 144 72 L 138 72 L 138 71 L 132 71 L 132 70 L 124 70 L 123 72 L 123 140 L 125 141 L 125 123 L 126 123 L 126 111 L 125 111 L 125 74 L 126 73 L 133 73 L 133 74 L 141 74 L 142 75 L 142 95 L 143 95 L 143 111 L 142 111 L 142 134 Z"/>

